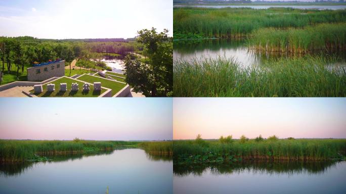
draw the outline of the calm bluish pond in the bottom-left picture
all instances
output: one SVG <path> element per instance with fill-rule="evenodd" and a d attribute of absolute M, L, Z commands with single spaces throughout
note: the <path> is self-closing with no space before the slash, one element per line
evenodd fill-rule
<path fill-rule="evenodd" d="M 140 149 L 0 165 L 0 193 L 172 193 L 172 160 Z"/>

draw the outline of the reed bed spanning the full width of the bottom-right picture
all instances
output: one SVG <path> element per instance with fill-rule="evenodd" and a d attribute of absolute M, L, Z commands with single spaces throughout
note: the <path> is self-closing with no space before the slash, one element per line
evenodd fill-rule
<path fill-rule="evenodd" d="M 173 152 L 174 162 L 178 164 L 239 160 L 321 161 L 344 157 L 346 139 L 250 139 L 230 143 L 179 140 L 174 141 Z"/>

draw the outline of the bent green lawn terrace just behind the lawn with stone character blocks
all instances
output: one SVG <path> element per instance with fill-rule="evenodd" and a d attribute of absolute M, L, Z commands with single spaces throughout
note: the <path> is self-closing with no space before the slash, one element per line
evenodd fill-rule
<path fill-rule="evenodd" d="M 104 79 L 104 78 L 96 77 L 92 75 L 82 75 L 78 77 L 77 79 L 81 81 L 89 82 L 89 83 L 101 82 L 101 86 L 112 89 L 112 95 L 116 94 L 126 85 L 124 83 L 119 83 L 116 81 L 111 81 L 108 79 Z"/>

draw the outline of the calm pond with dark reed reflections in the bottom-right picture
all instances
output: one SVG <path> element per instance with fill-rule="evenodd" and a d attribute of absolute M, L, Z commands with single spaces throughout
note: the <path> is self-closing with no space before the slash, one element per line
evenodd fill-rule
<path fill-rule="evenodd" d="M 174 166 L 175 193 L 346 193 L 346 161 Z"/>

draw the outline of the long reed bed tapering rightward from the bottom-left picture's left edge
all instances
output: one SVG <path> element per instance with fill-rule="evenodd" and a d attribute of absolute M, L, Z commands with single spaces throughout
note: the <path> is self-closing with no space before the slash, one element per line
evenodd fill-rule
<path fill-rule="evenodd" d="M 35 155 L 78 154 L 137 144 L 130 141 L 0 140 L 0 162 L 23 162 Z"/>

